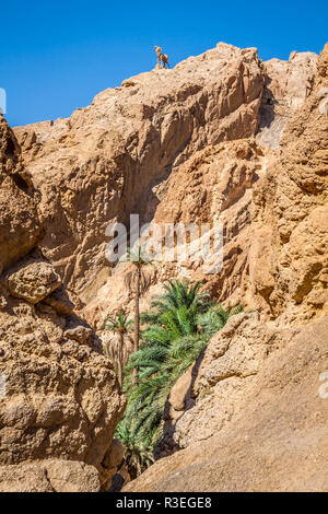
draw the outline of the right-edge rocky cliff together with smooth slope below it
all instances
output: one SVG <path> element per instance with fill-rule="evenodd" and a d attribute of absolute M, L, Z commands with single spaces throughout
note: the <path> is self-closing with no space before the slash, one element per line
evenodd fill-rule
<path fill-rule="evenodd" d="M 253 186 L 239 284 L 262 315 L 233 317 L 180 377 L 159 446 L 166 458 L 126 491 L 328 488 L 327 58 L 326 46 L 281 152 Z"/>

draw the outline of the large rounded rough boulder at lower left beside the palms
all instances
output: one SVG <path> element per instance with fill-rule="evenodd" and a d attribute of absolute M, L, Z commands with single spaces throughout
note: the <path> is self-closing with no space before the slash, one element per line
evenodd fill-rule
<path fill-rule="evenodd" d="M 50 306 L 11 299 L 0 319 L 0 463 L 61 457 L 101 469 L 125 402 L 91 330 L 77 341 Z"/>

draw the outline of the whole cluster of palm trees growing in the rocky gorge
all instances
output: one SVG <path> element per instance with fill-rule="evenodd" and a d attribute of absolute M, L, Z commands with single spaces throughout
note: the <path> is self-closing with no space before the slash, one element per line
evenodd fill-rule
<path fill-rule="evenodd" d="M 197 360 L 209 339 L 242 308 L 227 312 L 200 292 L 200 283 L 169 280 L 163 285 L 163 294 L 152 301 L 150 311 L 140 316 L 140 279 L 149 260 L 140 248 L 137 255 L 130 255 L 137 274 L 130 357 L 125 351 L 132 330 L 128 315 L 120 312 L 116 318 L 108 317 L 106 328 L 118 336 L 115 360 L 119 383 L 128 397 L 116 436 L 125 446 L 127 467 L 136 477 L 154 462 L 153 451 L 162 435 L 171 388 Z"/>

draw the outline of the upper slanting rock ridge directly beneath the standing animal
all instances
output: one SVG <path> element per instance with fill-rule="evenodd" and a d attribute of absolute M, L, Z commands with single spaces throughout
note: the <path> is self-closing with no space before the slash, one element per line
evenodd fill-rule
<path fill-rule="evenodd" d="M 298 60 L 289 63 L 289 75 L 303 70 L 306 57 Z M 307 60 L 304 77 L 311 80 L 315 57 Z M 110 274 L 107 224 L 126 223 L 130 213 L 151 221 L 167 179 L 197 151 L 255 136 L 266 73 L 255 49 L 220 43 L 173 70 L 142 73 L 104 91 L 69 119 L 15 129 L 43 194 L 49 224 L 43 250 L 84 304 Z M 289 84 L 283 98 L 294 95 Z"/>

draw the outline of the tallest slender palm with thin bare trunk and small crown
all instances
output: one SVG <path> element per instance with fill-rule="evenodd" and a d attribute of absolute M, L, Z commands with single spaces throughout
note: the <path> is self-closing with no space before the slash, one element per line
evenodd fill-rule
<path fill-rule="evenodd" d="M 134 295 L 134 352 L 139 351 L 140 341 L 140 283 L 142 268 L 152 264 L 148 255 L 144 253 L 141 246 L 137 249 L 128 248 L 128 259 L 133 262 L 136 267 L 136 295 Z M 137 387 L 139 384 L 139 370 L 133 370 L 133 386 Z"/>

